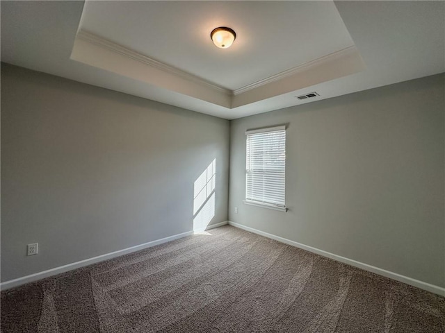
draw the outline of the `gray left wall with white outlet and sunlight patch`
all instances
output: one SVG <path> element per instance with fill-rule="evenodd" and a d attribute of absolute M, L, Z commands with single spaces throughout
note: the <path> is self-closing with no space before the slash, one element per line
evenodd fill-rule
<path fill-rule="evenodd" d="M 214 158 L 227 221 L 229 121 L 6 64 L 1 113 L 1 281 L 192 230 Z"/>

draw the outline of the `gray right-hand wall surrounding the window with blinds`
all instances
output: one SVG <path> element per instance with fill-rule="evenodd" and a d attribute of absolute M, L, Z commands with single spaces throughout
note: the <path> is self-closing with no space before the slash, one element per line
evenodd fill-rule
<path fill-rule="evenodd" d="M 444 287 L 444 97 L 442 74 L 232 121 L 229 220 Z M 286 213 L 242 202 L 244 132 L 281 124 Z"/>

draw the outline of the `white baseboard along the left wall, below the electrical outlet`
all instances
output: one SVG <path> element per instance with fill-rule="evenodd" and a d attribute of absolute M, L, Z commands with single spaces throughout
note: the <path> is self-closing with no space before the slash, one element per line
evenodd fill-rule
<path fill-rule="evenodd" d="M 216 228 L 216 225 L 220 226 L 220 225 L 224 225 L 224 224 L 227 224 L 227 221 L 222 222 L 222 223 L 216 223 L 214 225 L 209 225 L 209 227 Z M 31 275 L 26 275 L 22 278 L 17 278 L 14 280 L 9 280 L 9 281 L 0 283 L 0 290 L 6 290 L 6 289 L 20 286 L 20 285 L 28 283 L 28 282 L 33 282 L 33 281 L 41 280 L 43 278 L 48 278 L 49 276 L 52 276 L 52 275 L 65 273 L 67 271 L 72 271 L 75 268 L 88 266 L 90 264 L 95 264 L 96 262 L 102 262 L 107 259 L 112 259 L 115 257 L 119 257 L 121 255 L 126 255 L 127 253 L 132 253 L 132 252 L 136 252 L 138 250 L 143 250 L 144 248 L 150 248 L 152 246 L 167 243 L 168 241 L 174 241 L 175 239 L 179 239 L 179 238 L 186 237 L 186 236 L 191 236 L 192 234 L 193 234 L 193 231 L 183 232 L 181 234 L 174 234 L 172 236 L 165 237 L 162 239 L 156 239 L 156 241 L 149 241 L 144 244 L 131 246 L 131 248 L 124 248 L 123 250 L 118 250 L 118 251 L 115 251 L 112 253 L 106 253 L 105 255 L 98 255 L 97 257 L 92 257 L 89 259 L 81 260 L 80 262 L 73 262 L 72 264 L 67 264 L 64 266 L 48 269 L 47 271 L 42 271 L 42 272 L 34 273 Z"/>

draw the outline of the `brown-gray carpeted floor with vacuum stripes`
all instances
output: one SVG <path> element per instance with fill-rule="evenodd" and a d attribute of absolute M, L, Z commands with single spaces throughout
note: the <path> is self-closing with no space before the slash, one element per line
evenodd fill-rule
<path fill-rule="evenodd" d="M 1 293 L 9 332 L 445 332 L 445 299 L 224 226 Z"/>

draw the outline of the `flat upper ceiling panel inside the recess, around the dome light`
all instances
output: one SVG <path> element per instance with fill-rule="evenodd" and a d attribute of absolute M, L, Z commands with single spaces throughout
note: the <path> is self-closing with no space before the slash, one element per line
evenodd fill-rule
<path fill-rule="evenodd" d="M 86 1 L 80 28 L 232 90 L 354 44 L 332 1 Z"/>

